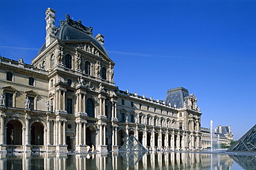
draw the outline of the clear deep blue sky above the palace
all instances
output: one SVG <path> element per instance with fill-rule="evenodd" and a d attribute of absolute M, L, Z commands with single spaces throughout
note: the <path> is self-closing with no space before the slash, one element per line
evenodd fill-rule
<path fill-rule="evenodd" d="M 201 126 L 231 125 L 235 140 L 256 123 L 256 1 L 0 4 L 1 56 L 31 63 L 50 7 L 57 21 L 68 13 L 105 36 L 120 89 L 164 100 L 167 89 L 185 87 L 198 98 Z"/>

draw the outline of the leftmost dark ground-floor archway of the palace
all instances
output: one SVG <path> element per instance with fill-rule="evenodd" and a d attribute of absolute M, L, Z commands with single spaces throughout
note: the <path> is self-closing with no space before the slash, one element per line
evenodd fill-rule
<path fill-rule="evenodd" d="M 10 120 L 6 125 L 6 144 L 22 145 L 22 124 L 19 120 Z M 13 135 L 13 140 L 11 139 Z"/>

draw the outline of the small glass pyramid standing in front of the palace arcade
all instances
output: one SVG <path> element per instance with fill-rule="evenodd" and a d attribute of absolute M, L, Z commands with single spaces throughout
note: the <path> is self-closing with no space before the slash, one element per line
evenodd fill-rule
<path fill-rule="evenodd" d="M 133 136 L 125 141 L 124 145 L 120 147 L 119 151 L 147 151 L 145 147 Z"/>

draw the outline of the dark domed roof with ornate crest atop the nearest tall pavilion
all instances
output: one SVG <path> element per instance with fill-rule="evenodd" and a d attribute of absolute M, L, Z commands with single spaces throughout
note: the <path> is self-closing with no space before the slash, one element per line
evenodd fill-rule
<path fill-rule="evenodd" d="M 60 26 L 55 28 L 54 34 L 57 39 L 65 41 L 91 41 L 91 43 L 108 56 L 107 50 L 103 46 L 104 41 L 100 42 L 98 39 L 94 38 L 92 30 L 92 27 L 87 28 L 82 25 L 82 21 L 73 21 L 70 19 L 69 15 L 66 14 L 66 20 L 60 21 Z M 42 45 L 38 53 L 42 52 L 45 48 L 46 45 Z"/>

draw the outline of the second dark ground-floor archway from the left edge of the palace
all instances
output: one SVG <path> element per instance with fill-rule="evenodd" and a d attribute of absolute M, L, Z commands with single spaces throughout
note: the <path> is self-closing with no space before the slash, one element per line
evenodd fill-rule
<path fill-rule="evenodd" d="M 44 145 L 44 126 L 41 123 L 33 123 L 30 131 L 31 145 Z"/>

